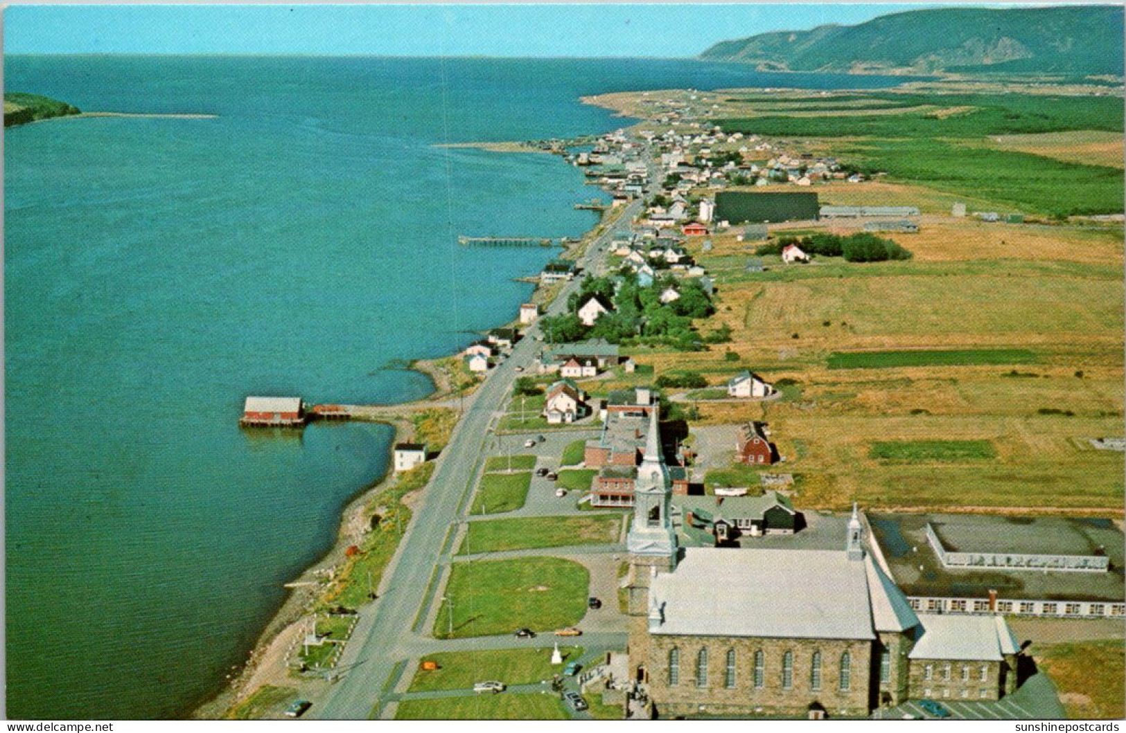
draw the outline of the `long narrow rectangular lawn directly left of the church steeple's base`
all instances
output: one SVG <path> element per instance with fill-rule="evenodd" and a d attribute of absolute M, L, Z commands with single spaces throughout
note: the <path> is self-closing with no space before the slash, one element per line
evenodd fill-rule
<path fill-rule="evenodd" d="M 458 554 L 503 552 L 578 544 L 613 544 L 618 541 L 622 517 L 521 517 L 470 522 Z"/>

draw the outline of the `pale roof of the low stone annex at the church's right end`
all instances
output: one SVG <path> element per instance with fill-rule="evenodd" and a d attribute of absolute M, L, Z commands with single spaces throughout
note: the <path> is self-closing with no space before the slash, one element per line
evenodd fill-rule
<path fill-rule="evenodd" d="M 911 659 L 1001 661 L 1020 650 L 1002 616 L 919 614 L 919 622 L 922 636 Z"/>

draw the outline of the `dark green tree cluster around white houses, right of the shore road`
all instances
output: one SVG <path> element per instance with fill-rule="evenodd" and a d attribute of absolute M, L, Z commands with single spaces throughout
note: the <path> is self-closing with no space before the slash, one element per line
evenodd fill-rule
<path fill-rule="evenodd" d="M 674 287 L 680 298 L 661 302 L 661 293 Z M 599 295 L 614 305 L 593 326 L 579 320 L 579 306 L 589 295 Z M 644 287 L 637 275 L 628 270 L 611 278 L 587 278 L 578 293 L 568 299 L 568 311 L 540 319 L 544 337 L 552 343 L 568 343 L 586 338 L 605 338 L 611 344 L 667 345 L 678 351 L 704 349 L 700 335 L 692 329 L 694 318 L 705 318 L 715 313 L 712 299 L 698 280 L 659 278 Z M 715 335 L 709 334 L 709 338 Z M 720 335 L 722 337 L 722 334 Z"/>

